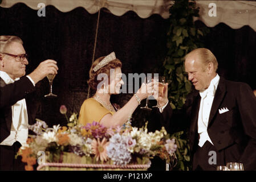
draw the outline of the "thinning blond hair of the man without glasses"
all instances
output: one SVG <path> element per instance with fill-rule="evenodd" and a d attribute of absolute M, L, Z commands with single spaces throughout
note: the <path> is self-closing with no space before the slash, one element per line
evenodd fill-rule
<path fill-rule="evenodd" d="M 194 49 L 193 51 L 189 52 L 185 56 L 185 60 L 186 60 L 186 58 L 188 58 L 191 55 L 196 55 L 198 57 L 198 59 L 201 61 L 201 63 L 204 64 L 205 66 L 207 66 L 209 63 L 213 63 L 214 71 L 215 72 L 217 71 L 218 61 L 209 49 L 206 49 L 206 48 Z"/>

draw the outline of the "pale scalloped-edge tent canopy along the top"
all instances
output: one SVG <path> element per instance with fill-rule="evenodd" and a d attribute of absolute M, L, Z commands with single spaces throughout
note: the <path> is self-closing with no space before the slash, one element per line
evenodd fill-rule
<path fill-rule="evenodd" d="M 25 3 L 31 9 L 40 9 L 39 3 L 45 6 L 55 6 L 62 12 L 76 7 L 83 7 L 90 14 L 97 13 L 102 7 L 112 14 L 121 16 L 127 11 L 135 11 L 140 18 L 148 18 L 152 14 L 159 14 L 162 18 L 169 17 L 169 7 L 173 5 L 170 0 L 0 0 L 1 7 L 11 7 L 15 3 Z M 196 1 L 200 7 L 201 20 L 208 27 L 218 23 L 225 23 L 231 28 L 250 26 L 256 31 L 256 1 Z"/>

